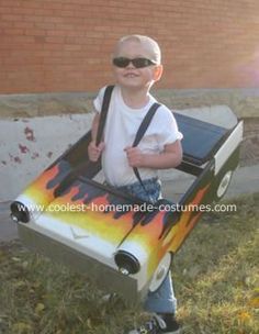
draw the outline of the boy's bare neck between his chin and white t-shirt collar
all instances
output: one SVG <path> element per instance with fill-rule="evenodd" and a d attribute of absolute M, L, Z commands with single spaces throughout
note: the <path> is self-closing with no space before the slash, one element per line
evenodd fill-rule
<path fill-rule="evenodd" d="M 140 109 L 149 101 L 149 89 L 125 89 L 121 88 L 124 103 L 133 109 Z"/>

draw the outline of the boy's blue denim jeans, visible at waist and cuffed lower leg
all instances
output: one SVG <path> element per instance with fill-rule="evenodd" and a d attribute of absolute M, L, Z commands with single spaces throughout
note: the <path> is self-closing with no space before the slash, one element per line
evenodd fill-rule
<path fill-rule="evenodd" d="M 143 183 L 145 189 L 139 182 L 123 186 L 119 189 L 151 203 L 155 203 L 159 198 L 161 198 L 161 183 L 157 178 L 143 180 Z M 170 271 L 157 291 L 148 292 L 144 302 L 144 309 L 147 312 L 155 313 L 176 313 L 177 299 L 173 292 Z"/>

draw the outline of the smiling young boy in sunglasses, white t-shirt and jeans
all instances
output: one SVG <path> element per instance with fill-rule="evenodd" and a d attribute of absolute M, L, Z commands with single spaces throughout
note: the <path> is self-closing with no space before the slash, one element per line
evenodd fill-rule
<path fill-rule="evenodd" d="M 102 154 L 103 172 L 109 185 L 151 202 L 161 196 L 157 170 L 176 167 L 182 159 L 182 134 L 171 111 L 164 104 L 156 111 L 139 145 L 132 147 L 144 116 L 156 102 L 149 90 L 162 75 L 160 58 L 160 48 L 150 37 L 130 35 L 117 42 L 113 55 L 116 86 L 110 101 L 104 140 L 95 145 L 105 89 L 102 88 L 94 100 L 97 113 L 88 147 L 92 162 Z M 145 188 L 137 180 L 134 167 L 138 169 Z M 179 333 L 174 319 L 176 302 L 169 274 L 158 291 L 149 292 L 146 298 L 145 310 L 154 313 L 153 318 L 130 334 Z"/>

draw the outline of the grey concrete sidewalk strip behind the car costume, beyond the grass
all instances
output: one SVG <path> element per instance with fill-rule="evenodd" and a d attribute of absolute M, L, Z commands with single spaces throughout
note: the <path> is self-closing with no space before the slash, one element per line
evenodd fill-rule
<path fill-rule="evenodd" d="M 167 180 L 164 185 L 165 198 L 179 197 L 188 188 L 190 180 Z M 174 190 L 174 192 L 173 192 Z M 246 193 L 259 192 L 259 165 L 241 167 L 233 176 L 232 183 L 224 199 Z M 16 225 L 10 219 L 10 202 L 0 202 L 0 243 L 18 237 Z"/>

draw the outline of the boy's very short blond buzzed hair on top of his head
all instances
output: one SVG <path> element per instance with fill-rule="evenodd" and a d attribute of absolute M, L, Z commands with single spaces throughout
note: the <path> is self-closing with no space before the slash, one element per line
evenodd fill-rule
<path fill-rule="evenodd" d="M 147 49 L 147 52 L 150 55 L 150 60 L 156 62 L 157 64 L 161 63 L 161 51 L 158 45 L 158 43 L 153 40 L 151 37 L 145 36 L 145 35 L 126 35 L 123 36 L 121 40 L 119 40 L 116 44 L 116 49 L 120 47 L 120 45 L 127 41 L 136 41 L 144 45 L 144 47 Z"/>

